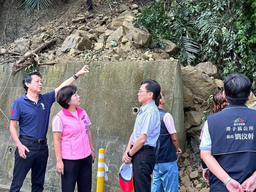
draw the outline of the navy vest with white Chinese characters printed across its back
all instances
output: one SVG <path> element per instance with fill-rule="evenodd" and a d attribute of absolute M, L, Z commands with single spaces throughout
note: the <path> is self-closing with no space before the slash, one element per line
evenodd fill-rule
<path fill-rule="evenodd" d="M 242 184 L 256 171 L 256 110 L 228 105 L 207 116 L 212 155 L 230 177 Z M 228 191 L 211 172 L 210 191 Z M 256 191 L 256 190 L 254 190 Z"/>

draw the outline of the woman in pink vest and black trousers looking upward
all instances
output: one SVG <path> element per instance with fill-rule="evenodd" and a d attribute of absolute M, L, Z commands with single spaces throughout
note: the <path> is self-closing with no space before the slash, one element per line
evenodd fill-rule
<path fill-rule="evenodd" d="M 62 192 L 74 192 L 76 183 L 78 192 L 91 192 L 95 152 L 90 119 L 78 107 L 80 97 L 75 85 L 62 87 L 57 102 L 63 108 L 52 119 L 52 131 Z"/>

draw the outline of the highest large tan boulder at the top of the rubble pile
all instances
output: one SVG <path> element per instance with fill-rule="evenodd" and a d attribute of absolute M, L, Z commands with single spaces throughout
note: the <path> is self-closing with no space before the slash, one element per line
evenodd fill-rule
<path fill-rule="evenodd" d="M 132 28 L 132 20 L 136 18 L 136 15 L 130 11 L 124 11 L 123 13 L 121 13 L 117 18 L 113 19 L 110 29 L 111 30 L 116 30 L 117 28 L 119 28 L 120 26 L 122 26 L 125 23 L 124 28 Z M 125 21 L 125 22 L 124 22 Z M 128 25 L 130 24 L 130 25 Z M 129 27 L 128 27 L 129 26 Z M 126 30 L 126 29 L 125 29 Z M 127 31 L 126 31 L 127 33 Z"/>

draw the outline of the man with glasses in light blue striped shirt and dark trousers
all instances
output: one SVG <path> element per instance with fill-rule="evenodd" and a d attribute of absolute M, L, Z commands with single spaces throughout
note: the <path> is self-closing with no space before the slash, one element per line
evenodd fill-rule
<path fill-rule="evenodd" d="M 150 175 L 156 163 L 154 148 L 160 134 L 160 116 L 155 104 L 160 91 L 160 85 L 148 79 L 141 83 L 138 93 L 142 107 L 123 156 L 124 163 L 132 162 L 135 192 L 150 191 Z"/>

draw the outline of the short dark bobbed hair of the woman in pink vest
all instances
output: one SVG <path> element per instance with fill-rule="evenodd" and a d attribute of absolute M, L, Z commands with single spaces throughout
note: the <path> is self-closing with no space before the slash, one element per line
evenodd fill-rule
<path fill-rule="evenodd" d="M 60 88 L 57 94 L 57 102 L 60 104 L 61 107 L 68 109 L 69 108 L 69 101 L 71 100 L 72 95 L 76 92 L 75 85 L 68 85 Z"/>

